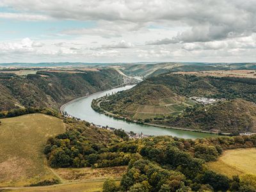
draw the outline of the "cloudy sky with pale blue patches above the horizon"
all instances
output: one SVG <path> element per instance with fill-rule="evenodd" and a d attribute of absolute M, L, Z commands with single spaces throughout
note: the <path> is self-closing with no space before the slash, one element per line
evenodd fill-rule
<path fill-rule="evenodd" d="M 255 62 L 255 0 L 0 0 L 0 63 Z"/>

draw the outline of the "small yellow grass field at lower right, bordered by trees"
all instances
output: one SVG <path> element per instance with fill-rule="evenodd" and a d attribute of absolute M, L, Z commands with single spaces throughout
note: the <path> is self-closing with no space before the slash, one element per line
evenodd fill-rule
<path fill-rule="evenodd" d="M 256 148 L 239 148 L 226 150 L 216 162 L 207 163 L 212 170 L 228 177 L 256 174 Z"/>

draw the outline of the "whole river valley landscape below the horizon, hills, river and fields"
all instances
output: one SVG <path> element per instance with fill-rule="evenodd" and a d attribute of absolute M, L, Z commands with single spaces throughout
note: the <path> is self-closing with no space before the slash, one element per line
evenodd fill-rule
<path fill-rule="evenodd" d="M 154 72 L 138 83 L 116 67 L 30 73 L 0 73 L 0 97 L 10 101 L 0 113 L 1 190 L 255 188 L 254 78 Z"/>

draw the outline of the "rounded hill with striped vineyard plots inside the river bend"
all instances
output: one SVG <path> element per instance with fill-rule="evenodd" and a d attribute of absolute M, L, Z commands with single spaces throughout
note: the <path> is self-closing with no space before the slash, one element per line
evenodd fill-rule
<path fill-rule="evenodd" d="M 172 92 L 163 84 L 140 83 L 131 90 L 110 95 L 100 108 L 134 119 L 177 115 L 195 102 Z"/>

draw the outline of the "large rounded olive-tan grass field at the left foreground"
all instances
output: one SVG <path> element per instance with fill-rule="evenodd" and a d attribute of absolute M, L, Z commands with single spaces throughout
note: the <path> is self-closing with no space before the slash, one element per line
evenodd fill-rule
<path fill-rule="evenodd" d="M 65 132 L 62 120 L 42 114 L 1 119 L 0 187 L 57 179 L 45 163 L 47 138 Z"/>

